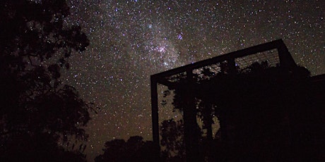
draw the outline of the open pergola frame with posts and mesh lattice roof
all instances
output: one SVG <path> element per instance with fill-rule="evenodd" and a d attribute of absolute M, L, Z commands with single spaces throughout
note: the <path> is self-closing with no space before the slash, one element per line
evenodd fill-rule
<path fill-rule="evenodd" d="M 268 52 L 266 52 L 268 51 Z M 152 106 L 152 124 L 153 124 L 153 142 L 156 148 L 156 154 L 160 154 L 160 134 L 158 121 L 158 83 L 169 88 L 177 87 L 179 82 L 175 82 L 172 78 L 175 75 L 182 74 L 186 80 L 185 87 L 187 91 L 187 108 L 184 108 L 184 142 L 186 145 L 187 161 L 196 161 L 196 137 L 194 131 L 191 131 L 191 125 L 196 122 L 194 96 L 191 96 L 194 85 L 194 70 L 204 68 L 218 63 L 226 63 L 228 66 L 228 74 L 235 75 L 238 68 L 246 68 L 253 62 L 268 61 L 271 66 L 278 66 L 286 70 L 293 70 L 297 67 L 293 57 L 290 55 L 288 48 L 285 46 L 282 39 L 259 44 L 247 49 L 233 51 L 229 54 L 223 54 L 196 63 L 191 63 L 186 66 L 167 70 L 150 76 L 151 88 L 151 106 Z M 184 82 L 182 83 L 184 84 Z M 184 86 L 184 85 L 183 85 Z"/>

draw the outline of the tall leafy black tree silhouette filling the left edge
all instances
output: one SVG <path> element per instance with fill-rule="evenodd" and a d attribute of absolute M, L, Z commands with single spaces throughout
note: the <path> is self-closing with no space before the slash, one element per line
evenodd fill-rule
<path fill-rule="evenodd" d="M 66 23 L 65 0 L 3 0 L 0 6 L 0 158 L 85 161 L 58 142 L 87 139 L 81 127 L 93 105 L 59 78 L 70 68 L 67 58 L 88 46 L 87 37 Z"/>

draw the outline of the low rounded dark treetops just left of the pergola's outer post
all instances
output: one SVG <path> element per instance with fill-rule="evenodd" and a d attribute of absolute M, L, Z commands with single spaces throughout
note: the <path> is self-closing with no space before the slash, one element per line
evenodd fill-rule
<path fill-rule="evenodd" d="M 102 161 L 157 161 L 154 156 L 153 142 L 143 141 L 143 137 L 133 136 L 126 142 L 114 139 L 105 143 L 104 154 L 95 158 Z"/>

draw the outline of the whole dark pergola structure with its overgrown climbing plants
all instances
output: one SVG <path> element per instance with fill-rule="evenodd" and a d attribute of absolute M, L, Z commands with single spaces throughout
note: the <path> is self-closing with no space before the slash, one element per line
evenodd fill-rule
<path fill-rule="evenodd" d="M 310 77 L 282 39 L 167 70 L 150 80 L 157 155 L 160 83 L 177 94 L 174 105 L 183 115 L 187 161 L 324 159 L 325 75 Z M 212 114 L 220 120 L 218 137 L 212 135 Z M 198 116 L 207 130 L 205 139 L 194 131 Z"/>

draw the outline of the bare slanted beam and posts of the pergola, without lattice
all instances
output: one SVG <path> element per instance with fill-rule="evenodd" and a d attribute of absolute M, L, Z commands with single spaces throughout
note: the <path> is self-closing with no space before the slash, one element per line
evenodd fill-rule
<path fill-rule="evenodd" d="M 236 58 L 243 58 L 245 56 L 249 56 L 252 54 L 261 53 L 264 51 L 271 51 L 273 49 L 276 49 L 278 51 L 278 61 L 279 66 L 281 68 L 285 68 L 288 70 L 291 70 L 293 68 L 296 68 L 297 65 L 295 61 L 293 60 L 293 57 L 290 55 L 288 48 L 285 46 L 282 39 L 275 40 L 273 42 L 268 42 L 265 44 L 259 44 L 257 46 L 252 46 L 247 49 L 241 49 L 239 51 L 233 51 L 229 54 L 223 54 L 221 56 L 216 56 L 213 58 L 209 58 L 203 61 L 199 61 L 196 63 L 191 63 L 186 66 L 182 66 L 179 68 L 175 68 L 172 70 L 167 70 L 162 73 L 158 73 L 155 75 L 150 76 L 150 88 L 151 88 L 151 106 L 152 106 L 152 124 L 153 124 L 153 142 L 155 144 L 155 148 L 157 150 L 157 156 L 160 154 L 160 135 L 159 135 L 159 123 L 158 123 L 158 83 L 165 85 L 167 87 L 177 87 L 177 82 L 171 82 L 168 78 L 170 78 L 173 75 L 186 73 L 186 79 L 189 87 L 189 91 L 191 91 L 191 82 L 193 82 L 193 70 L 198 68 L 203 68 L 206 66 L 211 66 L 216 63 L 221 63 L 223 61 L 227 61 L 228 67 L 230 69 L 230 73 L 235 72 L 236 70 Z M 191 92 L 189 92 L 191 94 Z M 187 109 L 184 109 L 184 141 L 186 144 L 186 151 L 187 151 L 187 161 L 195 161 L 195 137 L 193 137 L 193 133 L 186 131 L 189 130 L 191 123 L 196 122 L 196 117 L 193 115 L 194 113 L 191 111 L 194 111 L 194 98 L 191 96 L 188 96 L 188 107 Z"/>

